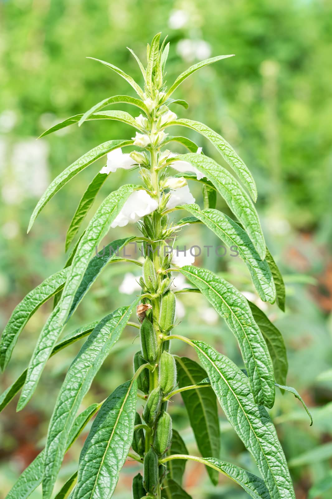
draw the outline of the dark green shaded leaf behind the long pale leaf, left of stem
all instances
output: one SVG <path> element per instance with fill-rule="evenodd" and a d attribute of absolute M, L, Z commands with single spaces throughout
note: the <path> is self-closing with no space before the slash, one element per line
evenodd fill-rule
<path fill-rule="evenodd" d="M 107 265 L 107 263 L 111 262 L 112 260 L 116 260 L 119 252 L 126 245 L 128 245 L 128 243 L 134 241 L 135 239 L 136 236 L 131 236 L 130 238 L 125 238 L 125 239 L 117 239 L 116 241 L 113 241 L 112 243 L 105 246 L 102 255 L 96 255 L 89 261 L 83 279 L 75 293 L 73 303 L 71 305 L 70 312 L 68 314 L 68 318 L 74 313 L 78 304 L 82 301 L 83 297 L 90 289 L 90 286 L 101 274 L 102 270 Z"/>

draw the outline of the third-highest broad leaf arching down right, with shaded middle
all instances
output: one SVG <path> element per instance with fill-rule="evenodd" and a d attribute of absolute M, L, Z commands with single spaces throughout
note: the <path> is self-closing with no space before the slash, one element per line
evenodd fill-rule
<path fill-rule="evenodd" d="M 198 205 L 185 205 L 183 208 L 203 222 L 229 248 L 236 247 L 240 258 L 250 272 L 260 298 L 274 303 L 276 288 L 270 267 L 266 260 L 260 258 L 248 234 L 236 222 L 218 210 L 200 210 Z"/>

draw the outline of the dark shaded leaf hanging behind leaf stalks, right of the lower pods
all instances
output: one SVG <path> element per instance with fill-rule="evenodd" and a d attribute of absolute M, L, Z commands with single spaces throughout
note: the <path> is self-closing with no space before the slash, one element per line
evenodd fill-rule
<path fill-rule="evenodd" d="M 206 377 L 204 369 L 197 362 L 187 357 L 175 357 L 179 388 L 195 385 Z M 197 388 L 181 392 L 182 400 L 188 413 L 190 426 L 195 435 L 201 455 L 219 457 L 220 436 L 216 397 L 212 388 Z M 218 473 L 207 468 L 211 482 L 218 483 Z"/>

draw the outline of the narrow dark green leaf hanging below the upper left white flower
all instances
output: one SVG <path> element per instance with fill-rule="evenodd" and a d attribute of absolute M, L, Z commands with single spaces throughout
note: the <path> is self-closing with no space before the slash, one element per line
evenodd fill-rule
<path fill-rule="evenodd" d="M 81 223 L 83 222 L 86 214 L 90 210 L 100 188 L 102 187 L 107 178 L 108 178 L 107 173 L 100 173 L 100 172 L 97 173 L 97 175 L 94 177 L 92 182 L 89 184 L 87 190 L 83 194 L 67 231 L 66 243 L 65 243 L 66 251 L 68 250 L 70 243 L 76 236 Z"/>

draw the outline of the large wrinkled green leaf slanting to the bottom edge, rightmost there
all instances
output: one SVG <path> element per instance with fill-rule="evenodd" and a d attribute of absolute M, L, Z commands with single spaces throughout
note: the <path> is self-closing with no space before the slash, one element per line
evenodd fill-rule
<path fill-rule="evenodd" d="M 257 406 L 248 378 L 230 359 L 203 341 L 193 341 L 228 421 L 253 455 L 271 498 L 295 499 L 287 462 L 275 427 Z"/>

